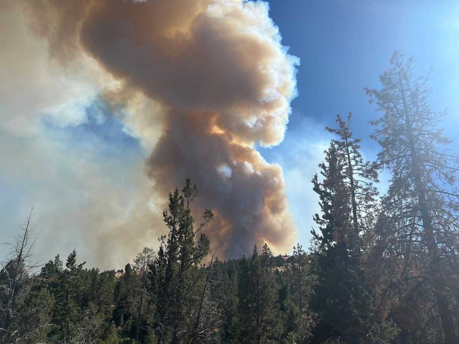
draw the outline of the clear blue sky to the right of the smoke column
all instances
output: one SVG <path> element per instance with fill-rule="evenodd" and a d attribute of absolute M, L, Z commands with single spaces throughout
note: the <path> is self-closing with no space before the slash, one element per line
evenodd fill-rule
<path fill-rule="evenodd" d="M 306 189 L 311 188 L 310 159 L 315 152 L 299 145 L 326 141 L 324 127 L 335 124 L 336 113 L 352 111 L 354 134 L 362 138 L 364 155 L 374 158 L 379 147 L 368 138 L 372 130 L 368 121 L 379 115 L 368 104 L 363 88 L 380 87 L 378 75 L 389 67 L 394 50 L 414 55 L 415 75 L 434 68 L 432 107 L 448 109 L 442 124 L 453 139 L 451 148 L 459 151 L 459 2 L 270 0 L 269 6 L 282 43 L 290 46 L 289 52 L 301 59 L 301 65 L 299 95 L 291 103 L 285 140 L 261 152 L 268 161 L 284 167 L 298 239 L 307 246 L 313 222 L 305 197 L 314 197 Z M 293 176 L 302 178 L 292 177 L 292 170 L 297 171 Z M 289 188 L 298 181 L 306 185 Z"/>

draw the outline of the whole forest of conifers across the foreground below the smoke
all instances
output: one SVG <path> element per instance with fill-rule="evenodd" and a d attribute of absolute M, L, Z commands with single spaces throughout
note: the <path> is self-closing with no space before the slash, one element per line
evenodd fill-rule
<path fill-rule="evenodd" d="M 0 271 L 0 343 L 457 344 L 459 156 L 431 109 L 430 73 L 415 78 L 399 52 L 390 62 L 381 89 L 365 89 L 377 160 L 362 157 L 351 114 L 326 128 L 307 248 L 219 260 L 202 233 L 212 211 L 191 215 L 190 178 L 169 194 L 159 248 L 123 270 L 86 268 L 75 251 L 38 266 L 28 216 Z"/>

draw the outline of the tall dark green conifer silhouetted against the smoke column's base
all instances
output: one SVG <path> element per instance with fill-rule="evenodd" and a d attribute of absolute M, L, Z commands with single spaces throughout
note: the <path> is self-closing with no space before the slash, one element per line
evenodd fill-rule
<path fill-rule="evenodd" d="M 176 344 L 179 333 L 187 333 L 193 326 L 189 317 L 197 308 L 198 299 L 191 295 L 199 294 L 196 288 L 196 281 L 201 277 L 198 266 L 209 251 L 207 236 L 201 233 L 195 245 L 195 235 L 213 219 L 212 211 L 206 209 L 202 223 L 195 230 L 191 203 L 197 194 L 196 185 L 191 186 L 190 178 L 186 178 L 182 194 L 178 188 L 169 193 L 168 210 L 163 211 L 169 233 L 160 238 L 161 245 L 151 266 L 159 315 L 158 344 L 165 335 L 170 336 L 171 344 Z"/>

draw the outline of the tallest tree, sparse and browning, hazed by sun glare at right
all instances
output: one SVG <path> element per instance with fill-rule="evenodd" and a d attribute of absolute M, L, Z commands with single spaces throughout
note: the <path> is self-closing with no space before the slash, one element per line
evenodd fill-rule
<path fill-rule="evenodd" d="M 386 228 L 403 227 L 390 244 L 406 240 L 426 257 L 446 344 L 457 344 L 457 327 L 449 307 L 447 276 L 453 273 L 458 251 L 458 193 L 453 188 L 459 158 L 442 150 L 449 140 L 437 128 L 444 112 L 431 110 L 430 72 L 414 78 L 413 57 L 406 63 L 394 52 L 392 67 L 380 75 L 382 89 L 366 89 L 384 115 L 372 121 L 371 137 L 381 144 L 378 162 L 392 172 L 385 197 Z M 397 222 L 391 226 L 390 220 Z M 390 233 L 385 233 L 391 236 Z M 406 251 L 412 259 L 414 250 Z M 402 254 L 402 253 L 401 253 Z"/>

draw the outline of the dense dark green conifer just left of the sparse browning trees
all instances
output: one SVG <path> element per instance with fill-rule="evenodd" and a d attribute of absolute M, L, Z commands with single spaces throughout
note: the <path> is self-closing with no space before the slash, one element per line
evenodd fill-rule
<path fill-rule="evenodd" d="M 345 183 L 346 160 L 341 159 L 335 143 L 325 152 L 325 163 L 319 165 L 324 178 L 313 178 L 313 189 L 319 194 L 322 215 L 314 215 L 320 234 L 314 230 L 316 252 L 311 256 L 314 284 L 312 310 L 318 314 L 314 341 L 340 338 L 352 344 L 368 338 L 393 337 L 393 328 L 383 321 L 359 264 L 355 250 L 353 211 L 349 184 Z"/>

